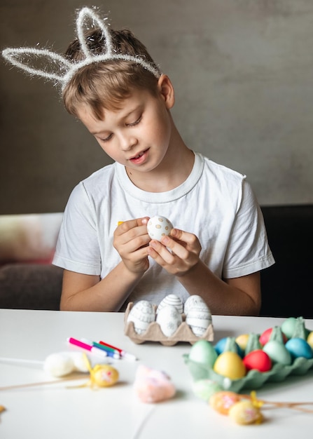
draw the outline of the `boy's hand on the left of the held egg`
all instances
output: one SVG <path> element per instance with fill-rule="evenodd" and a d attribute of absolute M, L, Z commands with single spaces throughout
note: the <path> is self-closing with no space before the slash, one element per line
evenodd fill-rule
<path fill-rule="evenodd" d="M 147 231 L 148 219 L 130 219 L 114 231 L 113 247 L 132 273 L 144 273 L 149 268 L 147 245 L 151 238 Z"/>

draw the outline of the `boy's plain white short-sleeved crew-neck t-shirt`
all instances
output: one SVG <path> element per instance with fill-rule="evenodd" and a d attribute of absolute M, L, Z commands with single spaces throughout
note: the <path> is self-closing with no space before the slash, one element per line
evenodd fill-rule
<path fill-rule="evenodd" d="M 171 191 L 139 189 L 119 163 L 79 183 L 64 211 L 53 264 L 104 278 L 120 262 L 113 248 L 118 221 L 154 215 L 195 234 L 202 261 L 219 278 L 246 276 L 274 264 L 263 216 L 245 176 L 199 153 L 187 180 Z M 168 294 L 185 302 L 188 292 L 181 283 L 149 259 L 150 268 L 127 302 L 158 304 Z"/>

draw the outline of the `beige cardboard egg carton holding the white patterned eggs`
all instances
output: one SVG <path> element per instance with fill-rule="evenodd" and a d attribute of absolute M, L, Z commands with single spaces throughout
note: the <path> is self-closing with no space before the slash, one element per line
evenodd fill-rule
<path fill-rule="evenodd" d="M 207 327 L 207 330 L 204 332 L 204 334 L 201 337 L 197 337 L 193 331 L 190 329 L 190 326 L 187 325 L 185 319 L 185 314 L 182 314 L 183 322 L 179 327 L 177 328 L 176 332 L 171 337 L 166 337 L 160 328 L 160 325 L 156 322 L 150 323 L 148 325 L 148 329 L 144 334 L 137 334 L 134 330 L 134 323 L 127 322 L 128 314 L 130 313 L 130 310 L 132 309 L 133 302 L 130 302 L 127 305 L 127 309 L 125 311 L 125 330 L 124 333 L 127 335 L 127 337 L 130 337 L 132 342 L 136 344 L 141 344 L 144 342 L 159 342 L 160 344 L 163 344 L 164 346 L 174 346 L 174 344 L 177 344 L 179 342 L 187 342 L 190 344 L 194 344 L 198 340 L 207 340 L 208 342 L 213 342 L 214 340 L 214 331 L 213 331 L 213 325 L 209 325 Z M 155 307 L 156 308 L 156 307 Z"/>

